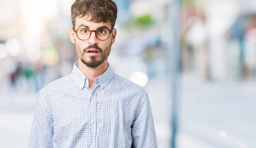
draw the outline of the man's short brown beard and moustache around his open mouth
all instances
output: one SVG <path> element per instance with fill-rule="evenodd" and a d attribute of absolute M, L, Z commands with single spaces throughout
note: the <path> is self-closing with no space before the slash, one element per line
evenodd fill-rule
<path fill-rule="evenodd" d="M 84 48 L 82 50 L 82 52 L 79 52 L 81 50 L 78 47 L 78 45 L 76 45 L 76 51 L 77 51 L 78 55 L 80 56 L 81 61 L 87 67 L 96 68 L 99 65 L 101 65 L 106 59 L 108 59 L 108 56 L 109 56 L 110 51 L 111 51 L 111 45 L 112 44 L 108 45 L 108 47 L 106 47 L 104 51 L 98 45 L 94 45 L 94 46 L 89 45 L 88 47 Z M 91 48 L 95 48 L 95 49 L 99 50 L 99 52 L 100 52 L 99 55 L 97 55 L 97 56 L 89 56 L 89 57 L 84 56 L 86 54 L 86 51 L 88 49 L 91 49 Z"/>

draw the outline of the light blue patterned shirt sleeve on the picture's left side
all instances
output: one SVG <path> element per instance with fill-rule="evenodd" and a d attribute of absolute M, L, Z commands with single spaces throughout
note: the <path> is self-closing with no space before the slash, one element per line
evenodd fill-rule
<path fill-rule="evenodd" d="M 29 148 L 53 148 L 53 118 L 47 95 L 39 92 L 32 121 Z"/>

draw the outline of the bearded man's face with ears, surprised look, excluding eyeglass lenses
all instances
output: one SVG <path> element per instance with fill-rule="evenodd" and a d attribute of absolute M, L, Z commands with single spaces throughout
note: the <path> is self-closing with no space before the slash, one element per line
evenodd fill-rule
<path fill-rule="evenodd" d="M 97 30 L 98 28 L 108 28 L 111 30 L 110 23 L 103 22 L 90 22 L 90 16 L 87 17 L 76 17 L 76 26 L 74 30 L 79 28 L 88 28 L 91 31 Z M 110 34 L 109 38 L 105 41 L 101 41 L 96 37 L 95 32 L 92 32 L 90 38 L 87 40 L 80 40 L 76 33 L 70 28 L 70 40 L 75 44 L 76 53 L 79 59 L 90 68 L 98 67 L 104 61 L 108 59 L 108 56 L 111 51 L 111 45 L 115 42 L 116 39 L 116 29 Z M 107 62 L 107 61 L 106 61 Z"/>

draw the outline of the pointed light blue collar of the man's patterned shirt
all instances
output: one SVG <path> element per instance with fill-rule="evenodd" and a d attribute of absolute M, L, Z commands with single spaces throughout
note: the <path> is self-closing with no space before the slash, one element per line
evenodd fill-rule
<path fill-rule="evenodd" d="M 83 89 L 84 87 L 89 87 L 89 81 L 88 81 L 87 77 L 78 69 L 78 66 L 79 66 L 79 63 L 77 61 L 74 63 L 73 70 L 72 70 L 74 80 L 76 81 L 76 83 L 78 84 L 80 89 Z M 97 77 L 95 79 L 94 87 L 96 85 L 99 85 L 100 87 L 105 88 L 106 85 L 113 78 L 113 75 L 114 75 L 114 73 L 113 73 L 110 65 L 108 64 L 107 70 L 102 75 L 100 75 L 99 77 Z"/>

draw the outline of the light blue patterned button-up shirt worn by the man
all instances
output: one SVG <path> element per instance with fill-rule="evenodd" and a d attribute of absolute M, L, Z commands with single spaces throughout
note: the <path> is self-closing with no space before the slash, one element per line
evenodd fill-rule
<path fill-rule="evenodd" d="M 148 94 L 110 66 L 90 89 L 76 62 L 39 92 L 29 148 L 157 148 Z"/>

